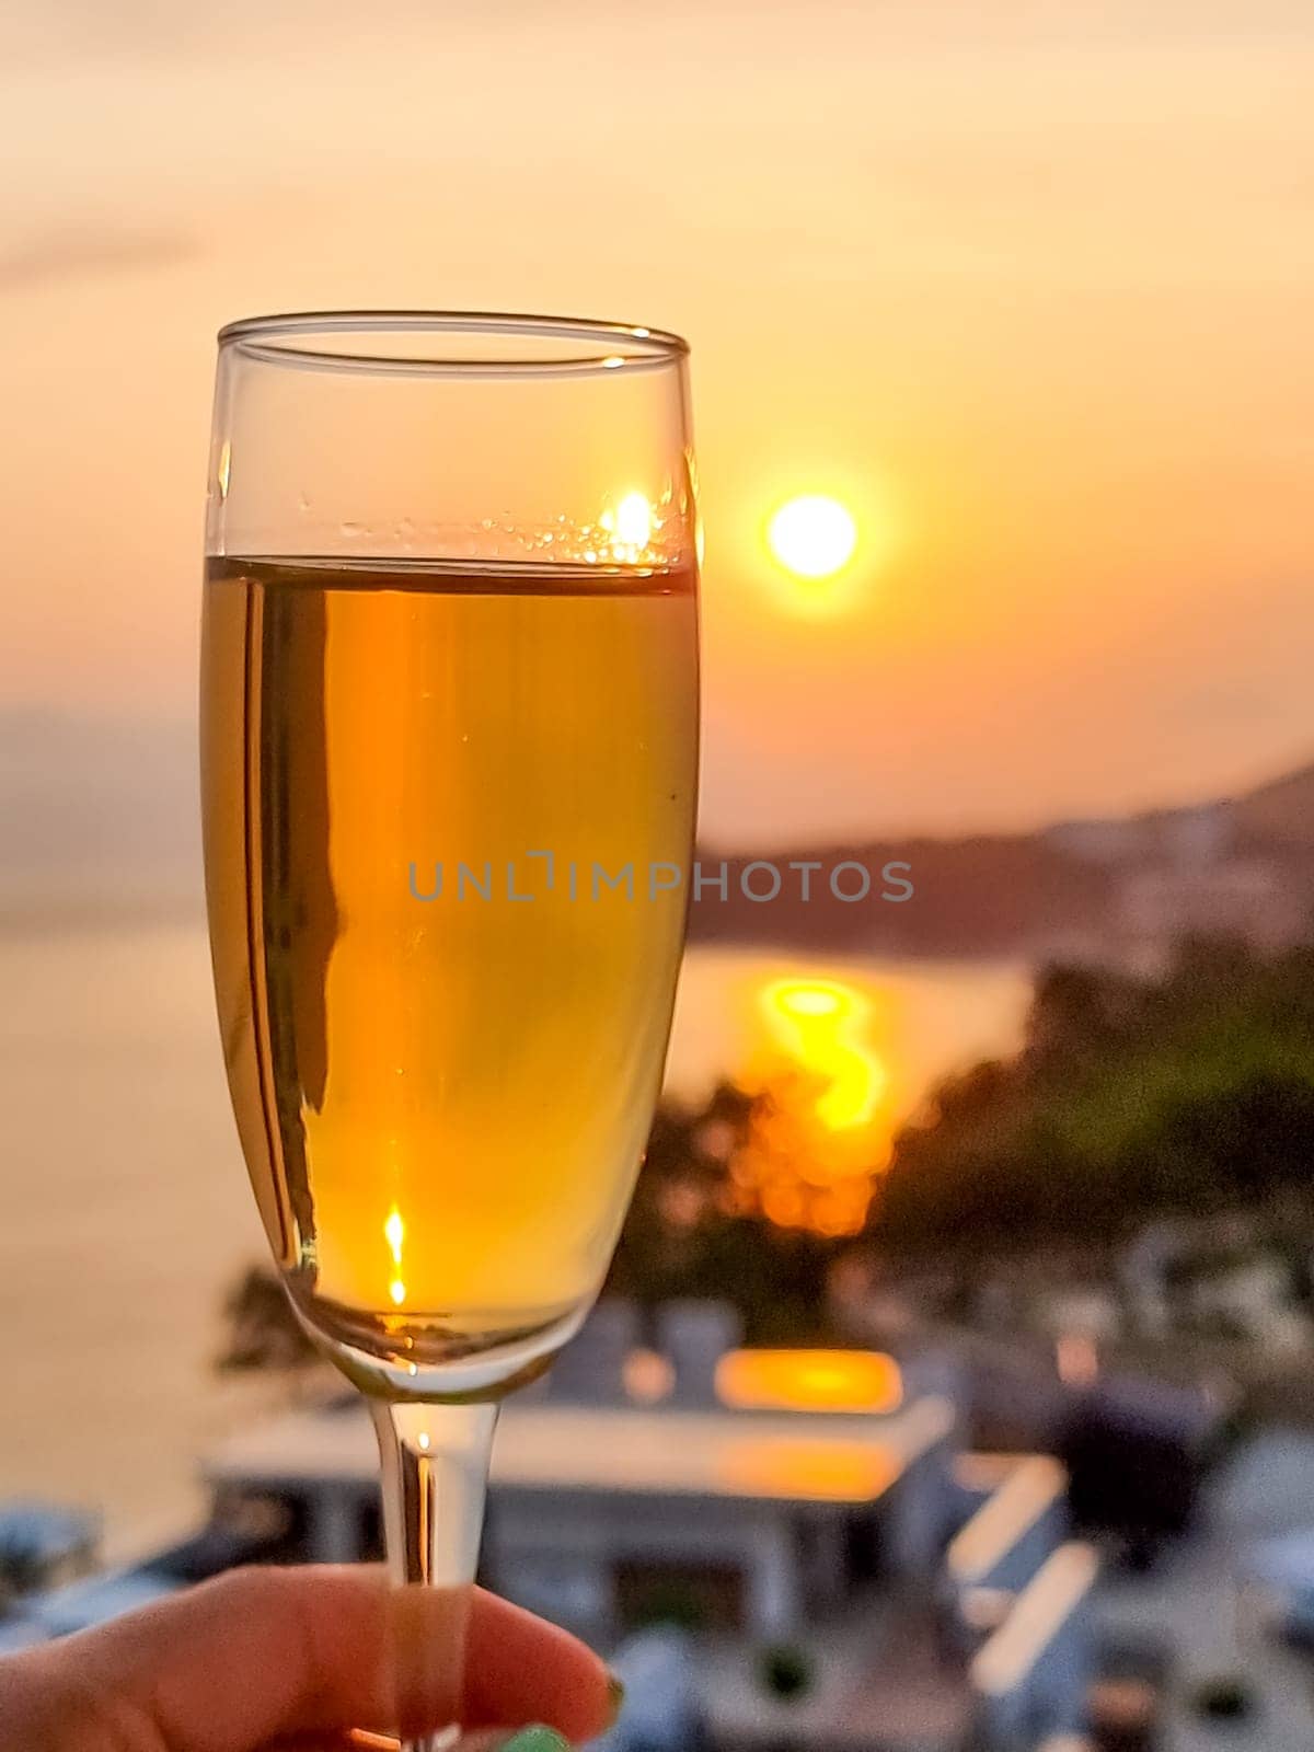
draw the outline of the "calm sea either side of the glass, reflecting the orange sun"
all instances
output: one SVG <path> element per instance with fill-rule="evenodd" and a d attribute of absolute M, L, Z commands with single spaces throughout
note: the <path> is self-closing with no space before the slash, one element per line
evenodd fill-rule
<path fill-rule="evenodd" d="M 265 1239 L 205 930 L 11 923 L 0 993 L 0 1501 L 95 1508 L 126 1558 L 194 1521 L 198 1456 L 282 1391 L 215 1370 L 224 1296 Z M 1013 1049 L 1028 995 L 1013 964 L 696 948 L 668 1088 L 857 1055 L 894 1128 L 944 1072 Z"/>

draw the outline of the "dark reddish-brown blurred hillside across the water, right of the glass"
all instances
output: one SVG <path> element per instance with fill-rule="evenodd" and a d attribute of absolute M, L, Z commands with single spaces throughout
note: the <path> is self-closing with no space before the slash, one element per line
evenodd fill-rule
<path fill-rule="evenodd" d="M 1314 766 L 1239 797 L 1144 815 L 1060 822 L 1034 834 L 876 839 L 792 846 L 762 857 L 781 871 L 773 904 L 746 899 L 750 855 L 699 851 L 708 876 L 727 862 L 727 899 L 704 885 L 692 909 L 699 943 L 788 944 L 853 955 L 1002 955 L 1162 965 L 1184 934 L 1277 950 L 1314 916 Z M 809 901 L 790 862 L 820 860 Z M 871 899 L 836 899 L 841 862 L 872 872 Z M 908 865 L 909 901 L 881 901 L 880 871 Z M 853 892 L 857 878 L 841 878 Z M 764 872 L 750 872 L 762 892 Z M 897 892 L 899 885 L 888 885 Z"/>

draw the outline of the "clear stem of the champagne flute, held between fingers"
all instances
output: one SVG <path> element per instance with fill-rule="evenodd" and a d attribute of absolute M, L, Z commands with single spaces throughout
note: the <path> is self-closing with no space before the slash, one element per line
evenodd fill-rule
<path fill-rule="evenodd" d="M 370 1409 L 382 1465 L 401 1752 L 447 1752 L 461 1734 L 466 1624 L 498 1405 L 373 1400 Z M 445 1603 L 438 1635 L 433 1603 L 417 1598 L 429 1587 Z M 434 1720 L 447 1726 L 434 1729 Z"/>

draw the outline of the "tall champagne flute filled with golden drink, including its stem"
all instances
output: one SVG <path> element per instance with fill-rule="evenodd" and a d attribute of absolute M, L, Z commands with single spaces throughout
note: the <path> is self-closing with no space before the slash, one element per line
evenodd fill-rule
<path fill-rule="evenodd" d="M 596 1296 L 657 1099 L 697 767 L 687 347 L 363 312 L 219 335 L 201 636 L 228 1084 L 368 1396 L 436 1748 L 501 1396 Z M 410 1589 L 450 1636 L 406 1649 Z M 452 1727 L 417 1738 L 419 1666 Z"/>

